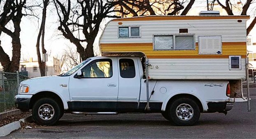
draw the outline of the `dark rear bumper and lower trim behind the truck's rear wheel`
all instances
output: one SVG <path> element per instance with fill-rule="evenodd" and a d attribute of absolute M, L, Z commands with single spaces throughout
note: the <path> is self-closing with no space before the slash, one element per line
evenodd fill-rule
<path fill-rule="evenodd" d="M 224 112 L 230 111 L 234 103 L 233 102 L 208 102 L 207 103 L 208 110 L 207 112 Z"/>

